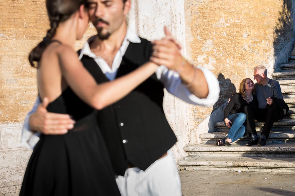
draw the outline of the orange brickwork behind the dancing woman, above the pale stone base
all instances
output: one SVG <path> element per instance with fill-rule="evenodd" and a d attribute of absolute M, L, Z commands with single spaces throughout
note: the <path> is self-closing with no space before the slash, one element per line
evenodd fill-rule
<path fill-rule="evenodd" d="M 36 69 L 27 60 L 49 28 L 44 0 L 0 2 L 0 123 L 22 122 L 37 97 Z M 90 28 L 76 49 L 95 34 Z"/>

